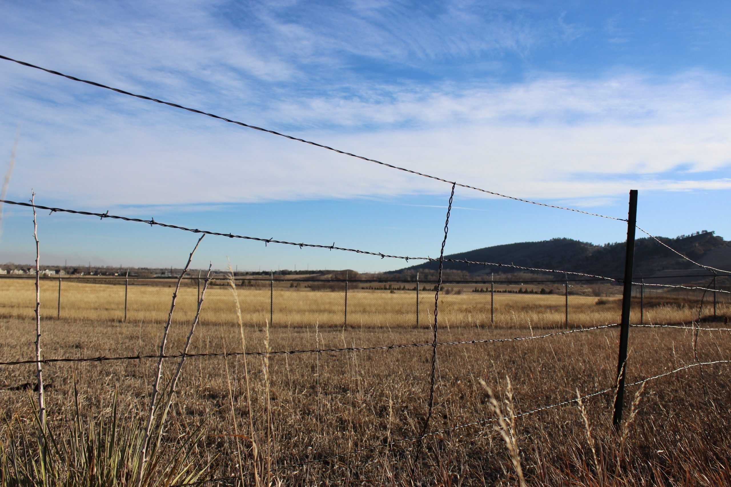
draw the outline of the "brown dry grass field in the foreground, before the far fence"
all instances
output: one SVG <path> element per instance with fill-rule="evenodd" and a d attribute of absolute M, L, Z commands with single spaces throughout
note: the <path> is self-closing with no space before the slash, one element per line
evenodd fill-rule
<path fill-rule="evenodd" d="M 95 289 L 89 288 L 86 294 L 89 299 L 86 304 L 90 306 L 105 302 L 102 294 L 91 293 Z M 45 296 L 53 297 L 53 287 L 45 292 Z M 183 318 L 190 312 L 194 292 L 193 288 L 183 290 L 183 296 L 186 293 L 191 296 L 187 296 L 176 311 L 182 312 L 171 331 L 170 353 L 177 353 L 183 347 L 188 329 Z M 216 292 L 221 295 L 217 296 Z M 231 299 L 230 291 L 226 292 L 228 294 L 216 289 L 210 297 L 207 295 L 192 352 L 240 350 L 238 326 L 207 318 L 208 313 L 221 312 L 219 307 L 226 304 L 227 297 Z M 260 301 L 268 297 L 268 294 L 262 294 L 265 291 L 254 292 L 260 294 L 257 295 Z M 292 292 L 319 295 L 323 300 L 333 294 Z M 239 293 L 243 303 L 254 302 L 249 297 L 243 299 L 243 295 L 251 291 L 240 289 Z M 428 294 L 425 295 L 426 301 Z M 140 294 L 139 299 L 143 296 Z M 394 295 L 379 293 L 379 298 L 386 298 L 382 308 L 392 309 L 389 306 L 393 306 L 398 310 L 403 304 L 387 304 L 391 296 Z M 449 298 L 455 298 L 453 306 L 474 299 L 469 294 L 444 296 L 446 310 L 449 310 Z M 484 299 L 484 295 L 480 298 Z M 433 299 L 433 295 L 428 299 Z M 4 302 L 7 303 L 7 299 Z M 593 302 L 596 298 L 591 298 Z M 167 305 L 169 307 L 169 302 Z M 466 307 L 469 304 L 463 306 L 457 309 L 462 310 L 461 316 L 468 316 Z M 595 323 L 600 319 L 602 323 L 617 321 L 616 310 L 613 314 L 604 311 L 601 305 L 589 307 L 602 309 L 597 316 L 606 316 L 591 318 Z M 78 319 L 61 318 L 43 324 L 46 358 L 156 353 L 162 334 L 159 316 L 152 322 L 135 318 L 132 323 L 120 323 L 94 319 L 90 307 L 79 305 L 78 309 Z M 151 307 L 148 312 L 164 314 L 167 310 Z M 524 312 L 525 316 L 541 315 L 540 307 Z M 249 311 L 244 310 L 247 322 L 260 323 L 246 326 L 247 350 L 250 351 L 265 350 L 262 328 L 268 316 L 260 313 L 251 318 Z M 270 350 L 367 347 L 431 340 L 426 321 L 421 329 L 410 326 L 375 328 L 374 324 L 364 325 L 363 329 L 360 326 L 322 329 L 315 325 L 317 317 L 312 318 L 303 325 L 287 327 L 280 323 L 272 329 Z M 532 333 L 526 325 L 520 329 L 487 328 L 452 319 L 450 326 L 446 320 L 440 320 L 440 341 L 531 336 Z M 3 318 L 0 330 L 0 356 L 4 361 L 32 356 L 32 320 Z M 616 375 L 617 340 L 618 329 L 601 329 L 518 342 L 442 346 L 439 348 L 431 431 L 493 418 L 485 391 L 478 383 L 480 379 L 504 397 L 506 377 L 510 377 L 518 413 L 575 398 L 577 388 L 581 394 L 610 388 Z M 686 330 L 633 328 L 630 348 L 627 370 L 630 383 L 692 364 L 695 360 L 693 334 Z M 414 437 L 420 433 L 427 410 L 430 358 L 429 347 L 270 356 L 268 368 L 261 357 L 246 358 L 252 398 L 251 420 L 260 450 L 269 452 L 272 468 L 286 467 Z M 700 331 L 697 358 L 700 361 L 731 358 L 731 334 Z M 174 363 L 167 362 L 165 376 L 169 378 Z M 154 360 L 47 365 L 45 381 L 53 385 L 46 394 L 50 427 L 59 428 L 73 415 L 74 384 L 85 415 L 92 418 L 109 415 L 116 392 L 125 421 L 140 421 L 155 365 Z M 243 365 L 244 359 L 240 356 L 189 358 L 164 442 L 173 445 L 185 441 L 195 426 L 205 421 L 205 434 L 194 450 L 196 461 L 199 464 L 212 462 L 210 472 L 213 476 L 238 475 L 238 441 L 243 449 L 242 470 L 246 485 L 249 485 L 253 483 L 250 473 L 246 473 L 253 467 L 251 442 L 232 436 L 254 436 L 249 431 Z M 627 446 L 621 453 L 617 451 L 618 437 L 609 427 L 612 394 L 586 399 L 588 421 L 593 427 L 602 472 L 616 479 L 614 483 L 604 485 L 728 485 L 731 480 L 727 464 L 727 459 L 731 458 L 731 423 L 727 414 L 731 407 L 729 372 L 729 364 L 717 364 L 649 382 Z M 15 390 L 24 383 L 34 383 L 34 366 L 0 368 L 3 390 L 0 407 L 6 416 L 22 418 L 32 432 L 29 391 Z M 628 404 L 636 390 L 637 387 L 629 389 Z M 265 441 L 268 403 L 272 418 L 269 446 Z M 583 424 L 575 403 L 518 418 L 517 442 L 529 485 L 556 486 L 569 482 L 602 485 Z M 4 431 L 7 432 L 7 426 Z M 410 479 L 407 474 L 414 445 L 413 441 L 400 442 L 338 459 L 281 469 L 272 472 L 270 479 L 287 486 L 516 483 L 505 445 L 491 423 L 427 437 L 425 453 L 417 462 L 414 478 Z M 619 463 L 618 458 L 621 459 Z M 700 475 L 705 475 L 707 480 Z"/>

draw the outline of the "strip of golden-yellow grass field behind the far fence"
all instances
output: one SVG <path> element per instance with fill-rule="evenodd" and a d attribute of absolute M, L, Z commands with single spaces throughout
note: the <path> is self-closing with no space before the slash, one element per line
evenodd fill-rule
<path fill-rule="evenodd" d="M 61 283 L 61 317 L 72 321 L 122 321 L 124 319 L 124 280 L 75 279 Z M 251 281 L 249 281 L 251 282 Z M 214 282 L 206 296 L 206 311 L 202 323 L 231 324 L 236 322 L 235 307 L 227 285 Z M 162 323 L 167 319 L 174 280 L 132 281 L 127 291 L 128 323 Z M 194 280 L 184 281 L 179 293 L 175 318 L 190 321 L 196 309 L 197 285 Z M 270 300 L 273 302 L 273 327 L 318 326 L 322 328 L 344 325 L 345 293 L 342 283 L 314 283 L 312 288 L 293 288 L 290 283 L 276 283 L 273 296 L 269 283 L 257 287 L 239 287 L 244 323 L 264 326 L 270 319 Z M 394 284 L 393 290 L 373 290 L 352 283 L 348 292 L 347 326 L 358 328 L 389 328 L 417 326 L 417 299 L 413 285 Z M 379 286 L 384 286 L 379 284 Z M 401 287 L 406 289 L 401 289 Z M 423 285 L 422 288 L 426 286 Z M 431 285 L 430 285 L 431 287 Z M 481 329 L 491 324 L 498 327 L 549 329 L 565 326 L 565 298 L 563 285 L 498 285 L 496 291 L 531 288 L 539 291 L 549 288 L 553 294 L 494 294 L 491 315 L 489 292 L 474 293 L 475 285 L 445 285 L 440 296 L 439 315 L 445 328 Z M 484 289 L 485 286 L 482 286 Z M 591 296 L 588 286 L 573 286 L 569 294 L 569 326 L 597 326 L 618 323 L 621 314 L 619 286 L 604 285 Z M 32 318 L 34 316 L 34 281 L 30 279 L 0 279 L 0 317 Z M 58 280 L 41 281 L 42 312 L 55 318 L 58 312 Z M 580 294 L 574 294 L 580 293 Z M 690 323 L 700 315 L 713 313 L 713 299 L 708 294 L 701 304 L 701 293 L 673 291 L 645 291 L 643 323 Z M 632 322 L 640 323 L 640 300 L 635 298 Z M 729 299 L 719 294 L 717 314 L 730 312 Z M 419 326 L 427 327 L 433 321 L 433 291 L 420 291 Z M 494 320 L 491 322 L 491 320 Z"/>

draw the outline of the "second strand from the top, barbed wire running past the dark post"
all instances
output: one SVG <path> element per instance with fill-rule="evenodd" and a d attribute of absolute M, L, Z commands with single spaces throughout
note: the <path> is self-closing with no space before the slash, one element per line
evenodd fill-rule
<path fill-rule="evenodd" d="M 24 203 L 24 202 L 14 202 L 10 199 L 0 199 L 0 203 L 6 203 L 6 204 L 15 204 L 18 206 L 23 207 L 30 207 L 31 204 Z M 173 225 L 172 223 L 162 223 L 159 221 L 155 221 L 154 218 L 151 218 L 150 220 L 143 220 L 142 218 L 131 218 L 121 215 L 110 215 L 109 212 L 99 213 L 99 212 L 88 212 L 88 211 L 82 211 L 82 210 L 69 210 L 67 208 L 58 208 L 58 207 L 47 207 L 41 204 L 36 205 L 37 208 L 40 208 L 41 210 L 49 210 L 51 213 L 54 212 L 63 212 L 63 213 L 71 213 L 72 215 L 86 215 L 86 216 L 95 216 L 99 217 L 100 219 L 104 218 L 111 218 L 113 220 L 121 220 L 121 221 L 129 221 L 129 222 L 137 222 L 137 223 L 145 223 L 150 226 L 162 226 L 164 228 L 168 229 L 177 229 L 177 230 L 183 230 L 183 231 L 190 231 L 194 234 L 207 234 L 207 235 L 216 235 L 218 237 L 227 237 L 232 239 L 245 239 L 245 240 L 254 240 L 256 242 L 263 242 L 265 245 L 268 245 L 270 243 L 276 243 L 281 245 L 293 245 L 295 247 L 299 248 L 322 248 L 327 250 L 340 250 L 343 252 L 354 252 L 354 253 L 360 253 L 368 256 L 376 256 L 380 258 L 398 258 L 401 260 L 404 260 L 406 262 L 408 261 L 429 261 L 429 262 L 438 262 L 439 259 L 437 258 L 431 258 L 431 257 L 409 257 L 409 256 L 394 256 L 387 253 L 382 252 L 371 252 L 370 250 L 360 250 L 355 248 L 345 248 L 345 247 L 337 247 L 335 243 L 333 242 L 333 245 L 319 245 L 319 244 L 311 244 L 311 243 L 305 243 L 305 242 L 288 242 L 286 240 L 276 240 L 274 238 L 261 238 L 261 237 L 250 237 L 247 235 L 238 235 L 238 234 L 224 234 L 219 231 L 210 231 L 210 230 L 200 230 L 200 229 L 191 229 L 186 226 L 180 226 L 180 225 Z M 607 277 L 602 275 L 596 275 L 596 274 L 587 274 L 586 272 L 573 272 L 573 271 L 565 271 L 560 269 L 542 269 L 539 267 L 527 267 L 527 266 L 517 266 L 515 264 L 502 264 L 499 262 L 487 262 L 487 261 L 469 261 L 466 259 L 461 258 L 444 258 L 444 262 L 456 262 L 461 264 L 471 264 L 471 265 L 477 265 L 477 266 L 497 266 L 497 267 L 508 267 L 510 269 L 520 269 L 520 270 L 526 270 L 526 271 L 534 271 L 534 272 L 550 272 L 555 274 L 564 274 L 564 275 L 577 275 L 582 277 L 594 277 L 596 279 L 601 280 L 608 280 L 614 283 L 621 283 L 622 281 L 619 279 L 615 279 L 613 277 Z M 640 283 L 633 283 L 639 285 Z M 701 290 L 707 290 L 707 291 L 716 291 L 719 293 L 726 293 L 731 294 L 731 291 L 724 291 L 721 289 L 714 290 L 714 289 L 708 289 L 708 288 L 702 288 L 699 286 L 683 286 L 683 285 L 669 285 L 669 284 L 649 284 L 646 283 L 645 285 L 652 285 L 652 286 L 660 286 L 660 287 L 667 287 L 667 288 L 683 288 L 683 289 L 701 289 Z"/>

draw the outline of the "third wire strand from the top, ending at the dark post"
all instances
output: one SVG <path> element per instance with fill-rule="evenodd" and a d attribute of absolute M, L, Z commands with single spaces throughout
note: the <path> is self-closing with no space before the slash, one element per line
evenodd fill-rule
<path fill-rule="evenodd" d="M 617 323 L 609 325 L 591 326 L 588 328 L 575 328 L 564 331 L 555 331 L 553 333 L 547 333 L 542 335 L 533 335 L 526 337 L 514 337 L 514 338 L 485 338 L 480 340 L 462 340 L 457 342 L 439 342 L 436 345 L 442 347 L 444 345 L 479 345 L 483 343 L 504 343 L 504 342 L 522 342 L 523 340 L 537 340 L 542 338 L 558 337 L 561 335 L 567 335 L 572 333 L 580 333 L 582 331 L 592 331 L 613 328 L 619 326 Z M 346 348 L 314 348 L 309 350 L 273 350 L 270 352 L 205 352 L 205 353 L 177 353 L 173 355 L 131 355 L 131 356 L 99 356 L 91 358 L 44 358 L 41 361 L 37 360 L 18 360 L 18 361 L 4 361 L 0 362 L 0 366 L 13 366 L 13 365 L 26 365 L 26 364 L 58 364 L 64 362 L 107 362 L 107 361 L 119 361 L 119 360 L 145 360 L 152 358 L 200 358 L 200 357 L 236 357 L 236 356 L 277 356 L 277 355 L 299 355 L 301 353 L 338 353 L 338 352 L 364 352 L 370 350 L 397 350 L 399 348 L 419 348 L 419 347 L 433 347 L 433 342 L 429 343 L 407 343 L 402 345 L 379 345 L 376 347 L 346 347 Z"/>

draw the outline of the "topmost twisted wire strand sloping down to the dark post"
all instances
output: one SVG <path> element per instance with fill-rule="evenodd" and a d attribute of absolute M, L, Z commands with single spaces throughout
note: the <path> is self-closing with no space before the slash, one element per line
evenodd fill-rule
<path fill-rule="evenodd" d="M 254 129 L 254 130 L 266 132 L 268 134 L 278 135 L 279 137 L 284 137 L 284 138 L 287 138 L 287 139 L 290 139 L 290 140 L 294 140 L 294 141 L 297 141 L 297 142 L 303 142 L 303 143 L 308 144 L 308 145 L 314 145 L 315 147 L 320 147 L 322 149 L 332 150 L 333 152 L 336 152 L 338 154 L 342 154 L 344 156 L 355 157 L 355 158 L 358 158 L 358 159 L 362 159 L 363 161 L 373 162 L 375 164 L 380 164 L 381 166 L 389 167 L 390 169 L 398 169 L 399 171 L 408 172 L 408 173 L 410 173 L 412 175 L 417 175 L 417 176 L 422 176 L 422 177 L 428 177 L 429 179 L 441 181 L 442 183 L 449 183 L 449 184 L 458 185 L 461 188 L 471 189 L 471 190 L 474 190 L 474 191 L 481 191 L 482 193 L 488 193 L 488 194 L 491 194 L 493 196 L 500 196 L 501 198 L 512 199 L 512 200 L 515 200 L 516 202 L 537 204 L 537 205 L 542 206 L 542 207 L 556 208 L 557 210 L 568 210 L 568 211 L 572 211 L 572 212 L 583 213 L 584 215 L 591 215 L 591 216 L 598 216 L 598 217 L 601 217 L 601 218 L 608 218 L 610 220 L 626 221 L 624 218 L 616 218 L 616 217 L 613 217 L 613 216 L 600 215 L 599 213 L 592 213 L 592 212 L 587 212 L 587 211 L 583 211 L 583 210 L 577 210 L 576 208 L 560 207 L 560 206 L 557 206 L 555 204 L 546 204 L 546 203 L 534 202 L 534 201 L 531 201 L 530 199 L 516 198 L 515 196 L 508 196 L 506 194 L 496 193 L 495 191 L 488 191 L 486 189 L 477 188 L 477 187 L 471 186 L 471 185 L 466 185 L 466 184 L 461 184 L 461 183 L 454 183 L 452 181 L 445 180 L 442 177 L 431 176 L 431 175 L 425 174 L 423 172 L 418 172 L 418 171 L 414 171 L 412 169 L 406 169 L 405 167 L 394 166 L 393 164 L 387 164 L 387 163 L 382 162 L 382 161 L 377 161 L 376 159 L 371 159 L 371 158 L 367 158 L 367 157 L 364 157 L 364 156 L 358 156 L 357 154 L 349 153 L 349 152 L 346 152 L 344 150 L 339 150 L 339 149 L 336 149 L 334 147 L 330 147 L 330 146 L 327 146 L 327 145 L 324 145 L 324 144 L 319 144 L 318 142 L 312 142 L 310 140 L 300 139 L 299 137 L 294 137 L 292 135 L 282 134 L 281 132 L 273 131 L 273 130 L 270 130 L 270 129 L 264 129 L 262 127 L 254 126 L 254 125 L 251 125 L 249 123 L 240 122 L 238 120 L 232 120 L 230 118 L 222 117 L 220 115 L 215 115 L 215 114 L 209 113 L 209 112 L 204 112 L 202 110 L 197 110 L 195 108 L 183 107 L 183 105 L 177 104 L 177 103 L 173 103 L 171 101 L 164 101 L 164 100 L 161 100 L 161 99 L 153 98 L 151 96 L 145 96 L 145 95 L 140 95 L 140 94 L 137 94 L 137 93 L 131 93 L 129 91 L 121 90 L 120 88 L 113 88 L 111 86 L 102 85 L 102 83 L 96 83 L 96 81 L 83 80 L 81 78 L 78 78 L 78 77 L 75 77 L 75 76 L 71 76 L 70 74 L 64 74 L 64 73 L 61 73 L 61 72 L 58 72 L 58 71 L 54 71 L 53 69 L 47 69 L 47 68 L 44 68 L 42 66 L 37 66 L 35 64 L 27 63 L 26 61 L 19 61 L 18 59 L 9 58 L 9 57 L 7 57 L 5 55 L 0 55 L 0 59 L 4 59 L 5 61 L 12 61 L 14 63 L 20 64 L 22 66 L 26 66 L 26 67 L 29 67 L 29 68 L 39 69 L 41 71 L 44 71 L 44 72 L 47 72 L 47 73 L 50 73 L 50 74 L 56 74 L 56 76 L 61 76 L 61 77 L 67 78 L 68 80 L 77 81 L 79 83 L 86 83 L 87 85 L 96 86 L 97 88 L 105 88 L 106 90 L 115 91 L 116 93 L 121 93 L 123 95 L 134 96 L 135 98 L 143 99 L 143 100 L 147 100 L 147 101 L 154 101 L 154 102 L 159 103 L 159 104 L 167 105 L 168 107 L 173 107 L 173 108 L 178 108 L 178 109 L 181 109 L 181 110 L 186 110 L 188 112 L 197 113 L 199 115 L 206 115 L 208 117 L 216 118 L 217 120 L 222 120 L 222 121 L 228 122 L 228 123 L 234 123 L 235 125 L 242 126 L 242 127 L 246 127 L 247 129 Z"/>

